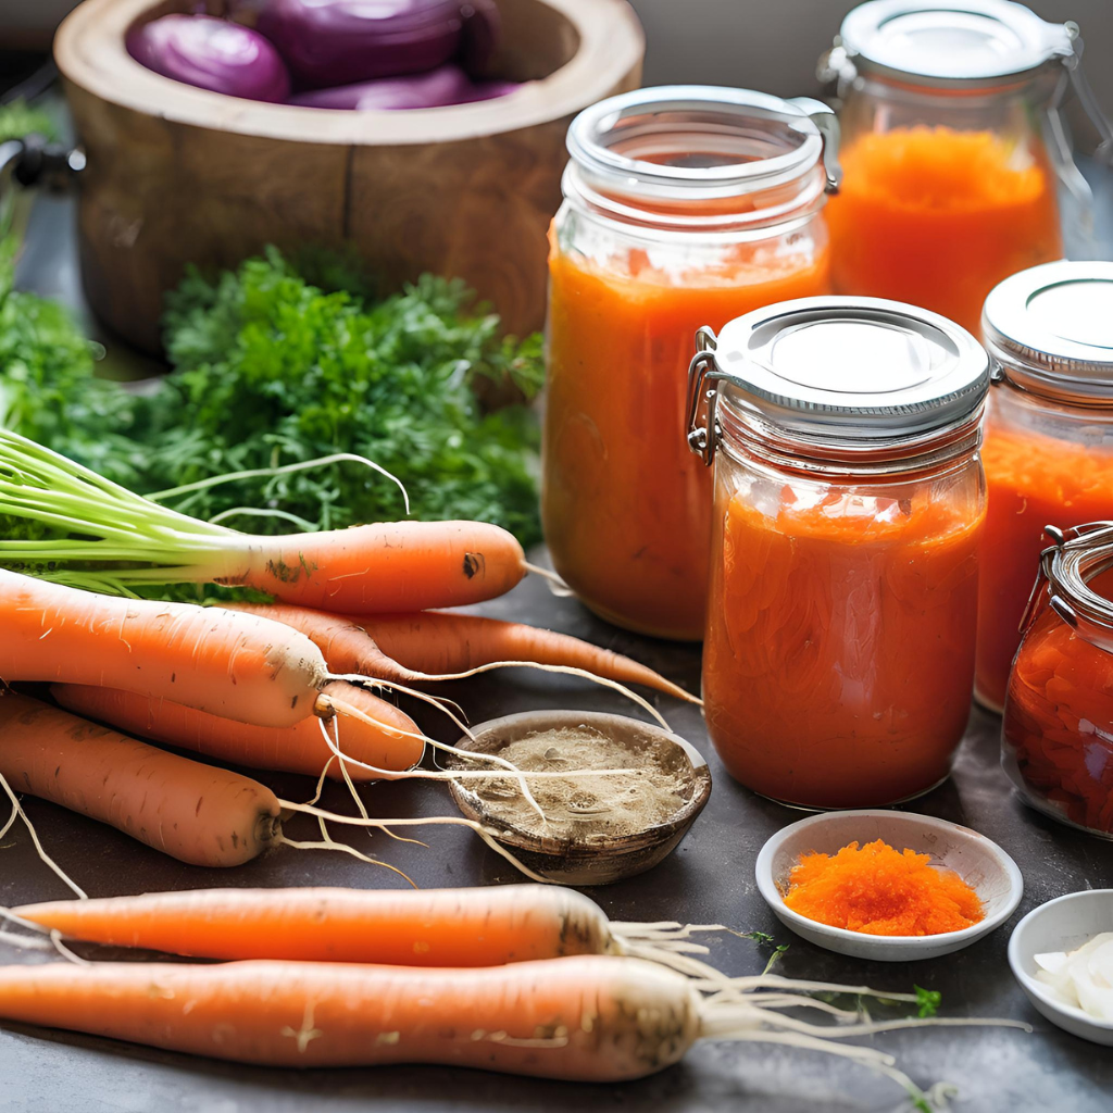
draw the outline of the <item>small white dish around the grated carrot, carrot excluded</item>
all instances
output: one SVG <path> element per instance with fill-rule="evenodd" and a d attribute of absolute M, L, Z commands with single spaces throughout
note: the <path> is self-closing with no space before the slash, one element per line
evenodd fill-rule
<path fill-rule="evenodd" d="M 785 906 L 781 889 L 788 887 L 789 874 L 800 855 L 836 854 L 848 843 L 865 846 L 876 839 L 884 839 L 897 850 L 929 854 L 933 863 L 953 869 L 981 897 L 985 918 L 943 935 L 864 935 L 828 927 Z M 789 824 L 761 848 L 756 874 L 761 896 L 786 927 L 816 946 L 883 963 L 937 958 L 961 951 L 1008 919 L 1024 894 L 1016 863 L 984 835 L 946 819 L 884 808 L 827 811 Z"/>

